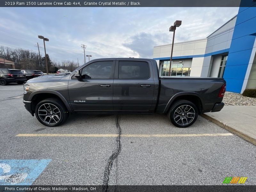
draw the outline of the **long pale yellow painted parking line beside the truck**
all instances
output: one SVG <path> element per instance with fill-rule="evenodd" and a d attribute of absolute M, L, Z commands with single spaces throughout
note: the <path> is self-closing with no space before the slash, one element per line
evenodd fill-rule
<path fill-rule="evenodd" d="M 232 133 L 202 133 L 202 134 L 121 134 L 121 137 L 205 137 L 205 136 L 232 136 Z M 16 137 L 117 137 L 118 134 L 52 134 L 26 133 Z"/>

